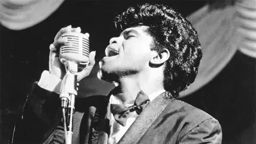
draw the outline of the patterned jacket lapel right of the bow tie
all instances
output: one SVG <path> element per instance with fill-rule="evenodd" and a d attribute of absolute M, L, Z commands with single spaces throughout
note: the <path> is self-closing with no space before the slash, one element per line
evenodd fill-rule
<path fill-rule="evenodd" d="M 173 100 L 174 98 L 171 96 L 170 92 L 164 92 L 158 95 L 158 97 L 148 104 L 137 119 L 135 119 L 121 140 L 119 140 L 118 144 L 137 143 L 142 135 L 148 130 L 150 125 L 155 121 L 155 119 Z"/>

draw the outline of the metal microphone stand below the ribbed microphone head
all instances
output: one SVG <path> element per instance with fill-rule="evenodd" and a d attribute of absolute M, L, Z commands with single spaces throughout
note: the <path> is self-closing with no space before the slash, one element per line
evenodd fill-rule
<path fill-rule="evenodd" d="M 77 75 L 75 75 L 77 73 L 77 63 L 68 61 L 65 64 L 65 67 L 67 73 L 62 80 L 60 100 L 64 121 L 65 141 L 67 144 L 71 144 L 73 134 L 73 116 L 75 111 L 75 95 L 77 95 Z M 66 110 L 68 112 L 68 127 L 66 127 Z"/>

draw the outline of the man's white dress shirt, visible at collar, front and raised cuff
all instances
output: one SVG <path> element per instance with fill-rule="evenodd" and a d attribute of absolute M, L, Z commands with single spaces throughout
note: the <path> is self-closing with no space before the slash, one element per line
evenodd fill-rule
<path fill-rule="evenodd" d="M 60 93 L 60 86 L 61 86 L 62 80 L 55 77 L 54 75 L 51 75 L 49 71 L 43 71 L 41 78 L 39 82 L 37 83 L 38 86 L 42 87 L 45 90 L 52 91 L 55 93 Z M 153 101 L 159 94 L 165 92 L 165 90 L 159 90 L 156 91 L 150 95 L 148 95 L 149 100 Z M 110 96 L 109 102 L 112 104 L 122 104 L 122 102 L 115 98 L 114 95 Z M 127 107 L 132 106 L 133 104 L 126 105 Z M 117 123 L 114 115 L 111 114 L 110 118 L 110 135 L 108 139 L 109 144 L 115 144 L 117 143 L 125 134 L 125 132 L 129 129 L 129 127 L 132 125 L 132 123 L 135 121 L 135 119 L 138 117 L 136 111 L 133 111 L 130 113 L 130 116 L 127 118 L 126 125 L 122 126 L 121 124 Z"/>

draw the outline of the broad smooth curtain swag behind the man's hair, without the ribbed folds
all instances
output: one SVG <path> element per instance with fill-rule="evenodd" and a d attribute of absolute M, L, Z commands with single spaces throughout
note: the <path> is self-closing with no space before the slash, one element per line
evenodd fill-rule
<path fill-rule="evenodd" d="M 195 82 L 181 92 L 180 97 L 185 97 L 210 82 L 233 57 L 240 42 L 241 37 L 236 32 L 234 7 L 212 7 L 214 6 L 205 5 L 188 17 L 198 32 L 203 58 Z"/>

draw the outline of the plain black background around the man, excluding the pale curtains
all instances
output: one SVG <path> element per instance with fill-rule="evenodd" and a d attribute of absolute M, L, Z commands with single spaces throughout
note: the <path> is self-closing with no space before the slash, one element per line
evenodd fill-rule
<path fill-rule="evenodd" d="M 0 26 L 0 143 L 6 143 L 10 137 L 15 118 L 20 114 L 33 82 L 48 69 L 49 45 L 59 29 L 72 25 L 89 33 L 90 50 L 97 51 L 98 62 L 105 54 L 109 39 L 118 35 L 112 23 L 114 16 L 134 3 L 138 1 L 65 1 L 49 18 L 33 27 L 10 30 Z M 187 16 L 208 2 L 161 3 L 169 4 Z M 255 80 L 255 58 L 237 51 L 210 83 L 182 100 L 218 119 L 223 131 L 222 143 L 256 143 Z M 83 83 L 86 85 L 86 81 Z"/>

